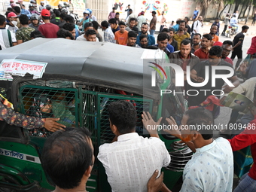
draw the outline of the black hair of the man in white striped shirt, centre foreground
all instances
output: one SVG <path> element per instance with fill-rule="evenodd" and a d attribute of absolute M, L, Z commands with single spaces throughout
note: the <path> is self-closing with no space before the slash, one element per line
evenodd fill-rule
<path fill-rule="evenodd" d="M 108 105 L 108 114 L 111 124 L 117 126 L 120 134 L 135 131 L 137 113 L 131 102 L 125 100 L 111 102 Z"/>

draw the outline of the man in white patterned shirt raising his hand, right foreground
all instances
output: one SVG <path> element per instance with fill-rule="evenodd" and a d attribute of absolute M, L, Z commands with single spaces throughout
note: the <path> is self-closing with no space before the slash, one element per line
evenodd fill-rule
<path fill-rule="evenodd" d="M 172 117 L 167 121 L 171 127 L 175 127 L 176 123 Z M 185 112 L 181 120 L 181 131 L 166 130 L 186 142 L 195 152 L 184 167 L 181 192 L 232 191 L 232 148 L 227 139 L 212 139 L 212 123 L 212 112 L 206 108 L 194 108 Z"/>

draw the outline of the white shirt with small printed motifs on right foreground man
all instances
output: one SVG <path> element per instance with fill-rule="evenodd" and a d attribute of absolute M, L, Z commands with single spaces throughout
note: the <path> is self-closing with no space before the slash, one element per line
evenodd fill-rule
<path fill-rule="evenodd" d="M 227 139 L 197 148 L 184 168 L 181 191 L 231 192 L 232 187 L 233 152 Z"/>

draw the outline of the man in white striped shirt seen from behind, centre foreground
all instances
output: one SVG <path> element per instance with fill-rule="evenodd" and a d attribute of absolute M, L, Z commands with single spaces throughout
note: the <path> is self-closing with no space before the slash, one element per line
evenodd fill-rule
<path fill-rule="evenodd" d="M 131 102 L 111 102 L 108 113 L 117 142 L 101 145 L 98 159 L 105 167 L 111 189 L 145 192 L 153 172 L 170 163 L 166 146 L 157 137 L 148 139 L 136 133 L 137 114 Z"/>

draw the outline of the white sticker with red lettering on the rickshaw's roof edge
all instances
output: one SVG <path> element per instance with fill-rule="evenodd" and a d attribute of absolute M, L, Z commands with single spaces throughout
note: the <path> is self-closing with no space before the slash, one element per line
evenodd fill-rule
<path fill-rule="evenodd" d="M 25 76 L 26 73 L 34 75 L 34 79 L 41 78 L 47 62 L 36 62 L 21 59 L 4 59 L 0 64 L 0 81 L 12 81 L 12 75 Z"/>

